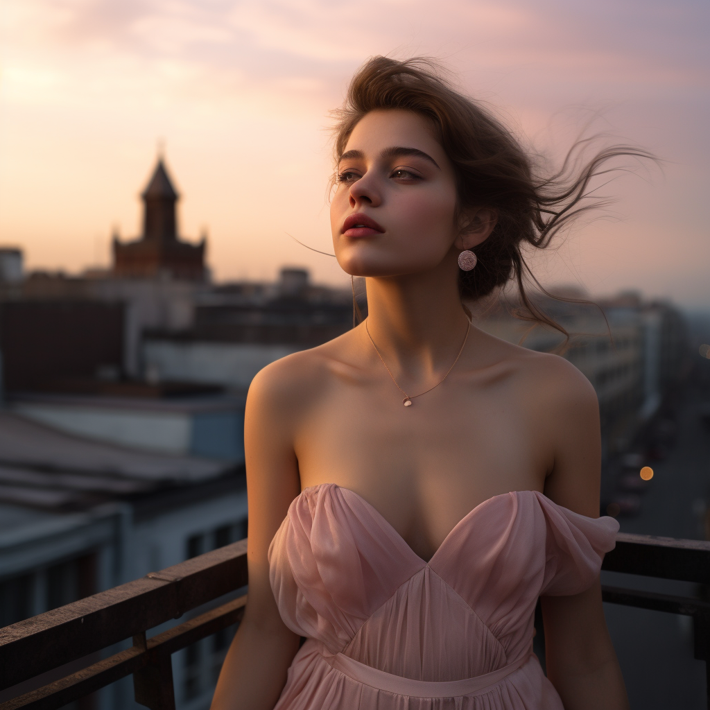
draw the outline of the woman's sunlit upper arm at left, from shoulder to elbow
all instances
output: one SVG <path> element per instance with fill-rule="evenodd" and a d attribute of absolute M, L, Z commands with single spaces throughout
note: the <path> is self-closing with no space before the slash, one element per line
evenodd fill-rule
<path fill-rule="evenodd" d="M 249 605 L 251 621 L 280 620 L 269 581 L 268 548 L 291 501 L 300 493 L 293 452 L 297 393 L 288 359 L 253 379 L 244 413 L 244 455 L 249 496 Z"/>

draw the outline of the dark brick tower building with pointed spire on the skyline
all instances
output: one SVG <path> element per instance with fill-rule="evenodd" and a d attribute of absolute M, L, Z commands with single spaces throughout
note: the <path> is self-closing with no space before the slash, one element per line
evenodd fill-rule
<path fill-rule="evenodd" d="M 179 195 L 168 177 L 163 159 L 158 159 L 153 177 L 141 193 L 143 234 L 122 243 L 114 236 L 115 278 L 160 278 L 201 281 L 205 278 L 206 240 L 189 244 L 178 238 L 175 204 Z"/>

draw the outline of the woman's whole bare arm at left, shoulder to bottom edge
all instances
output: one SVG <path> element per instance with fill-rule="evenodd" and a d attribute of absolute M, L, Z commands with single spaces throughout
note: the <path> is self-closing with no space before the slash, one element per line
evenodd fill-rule
<path fill-rule="evenodd" d="M 292 422 L 298 418 L 293 357 L 253 379 L 246 399 L 244 451 L 249 493 L 249 599 L 227 652 L 212 710 L 268 709 L 278 701 L 298 637 L 281 619 L 269 579 L 268 548 L 300 491 Z"/>

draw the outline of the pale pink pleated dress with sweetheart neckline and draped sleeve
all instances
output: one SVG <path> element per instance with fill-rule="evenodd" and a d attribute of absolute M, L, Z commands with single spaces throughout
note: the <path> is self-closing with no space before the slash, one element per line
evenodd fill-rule
<path fill-rule="evenodd" d="M 425 562 L 356 493 L 306 488 L 269 549 L 283 621 L 307 637 L 276 709 L 562 710 L 532 654 L 535 603 L 588 589 L 617 530 L 504 493 Z"/>

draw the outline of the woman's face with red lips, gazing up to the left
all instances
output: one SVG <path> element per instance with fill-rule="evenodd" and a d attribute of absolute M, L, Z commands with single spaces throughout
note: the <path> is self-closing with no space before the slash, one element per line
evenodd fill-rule
<path fill-rule="evenodd" d="M 429 271 L 454 253 L 456 206 L 454 170 L 427 120 L 371 111 L 337 168 L 330 223 L 338 263 L 356 276 Z"/>

